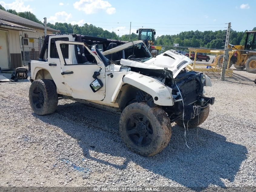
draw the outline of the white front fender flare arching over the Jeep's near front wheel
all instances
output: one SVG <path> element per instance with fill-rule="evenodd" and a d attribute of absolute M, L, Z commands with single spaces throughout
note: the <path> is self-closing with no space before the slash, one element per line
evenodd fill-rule
<path fill-rule="evenodd" d="M 172 89 L 167 88 L 163 83 L 154 78 L 130 72 L 123 77 L 123 82 L 150 94 L 157 105 L 173 106 Z"/>

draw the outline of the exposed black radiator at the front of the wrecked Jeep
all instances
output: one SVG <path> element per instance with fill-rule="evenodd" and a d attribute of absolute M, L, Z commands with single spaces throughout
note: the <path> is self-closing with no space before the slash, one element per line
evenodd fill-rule
<path fill-rule="evenodd" d="M 180 86 L 180 90 L 184 104 L 188 105 L 197 100 L 197 84 L 195 79 Z"/>

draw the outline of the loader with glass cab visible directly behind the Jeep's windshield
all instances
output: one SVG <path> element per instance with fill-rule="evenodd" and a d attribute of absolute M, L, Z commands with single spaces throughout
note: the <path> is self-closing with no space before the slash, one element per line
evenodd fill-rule
<path fill-rule="evenodd" d="M 148 46 L 148 49 L 150 50 L 152 56 L 157 56 L 159 53 L 159 50 L 162 49 L 162 46 L 155 46 L 155 29 L 145 29 L 140 28 L 137 29 L 136 33 L 139 34 L 139 39 L 145 42 L 145 44 Z"/>

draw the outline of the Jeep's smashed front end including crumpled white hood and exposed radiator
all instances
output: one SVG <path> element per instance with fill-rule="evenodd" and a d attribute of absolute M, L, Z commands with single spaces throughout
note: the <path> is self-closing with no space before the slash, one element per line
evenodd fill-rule
<path fill-rule="evenodd" d="M 121 65 L 131 71 L 150 76 L 164 84 L 171 91 L 172 106 L 162 106 L 171 122 L 183 119 L 187 122 L 214 104 L 214 97 L 205 97 L 204 86 L 211 86 L 211 79 L 201 72 L 188 71 L 191 59 L 173 51 L 153 57 L 145 62 L 121 59 Z"/>

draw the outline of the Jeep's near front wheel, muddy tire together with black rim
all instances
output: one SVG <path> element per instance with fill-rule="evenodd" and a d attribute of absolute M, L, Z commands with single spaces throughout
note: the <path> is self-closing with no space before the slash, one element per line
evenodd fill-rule
<path fill-rule="evenodd" d="M 142 156 L 163 150 L 171 137 L 171 123 L 165 111 L 146 103 L 131 103 L 121 113 L 119 131 L 126 146 Z"/>

